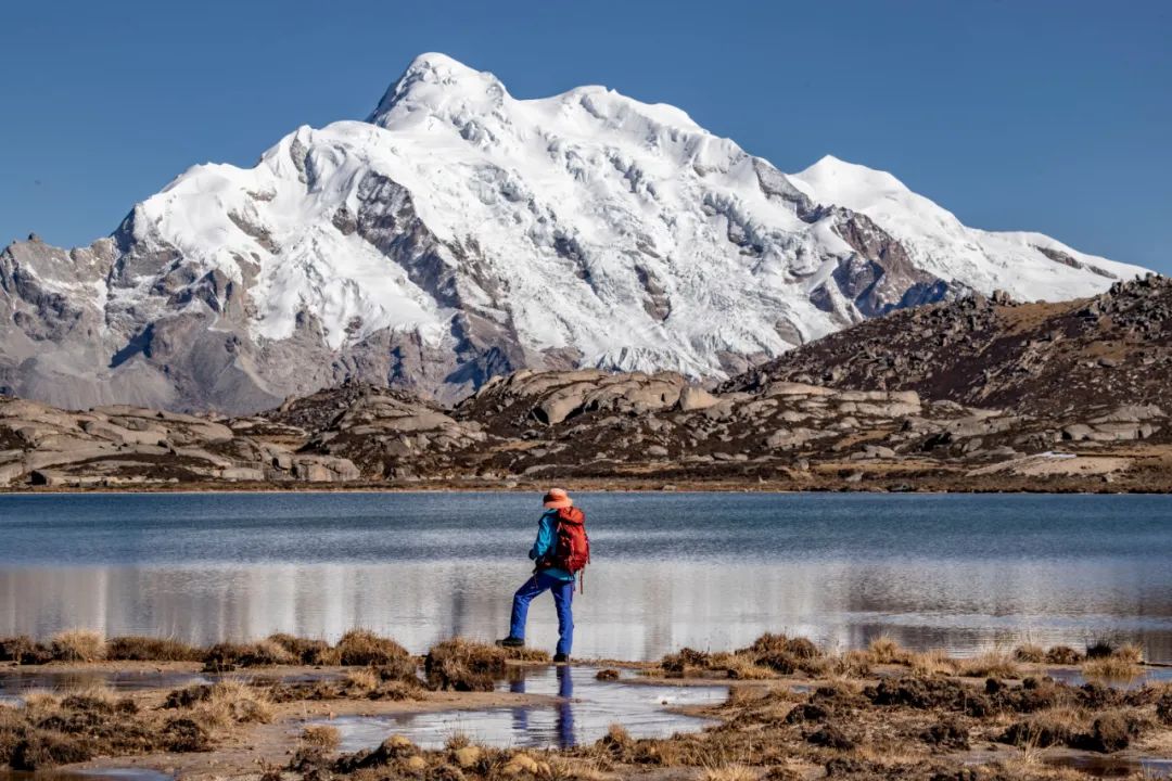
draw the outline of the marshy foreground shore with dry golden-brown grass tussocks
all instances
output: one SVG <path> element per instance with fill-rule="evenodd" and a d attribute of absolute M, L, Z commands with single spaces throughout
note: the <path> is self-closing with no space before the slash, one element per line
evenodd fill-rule
<path fill-rule="evenodd" d="M 313 643 L 289 636 L 268 643 L 277 638 L 291 649 Z M 386 638 L 357 639 L 352 651 L 366 656 L 342 666 L 336 658 L 329 665 L 268 658 L 209 673 L 223 658 L 211 650 L 203 663 L 0 666 L 0 686 L 21 674 L 98 678 L 29 693 L 19 707 L 0 704 L 0 754 L 9 752 L 0 767 L 137 769 L 179 781 L 1078 781 L 1089 777 L 1078 763 L 1152 777 L 1138 774 L 1144 762 L 1163 761 L 1172 746 L 1172 683 L 1123 683 L 1150 671 L 1134 646 L 1083 655 L 1027 644 L 960 659 L 907 651 L 884 637 L 864 650 L 827 653 L 803 638 L 766 633 L 736 651 L 681 649 L 656 663 L 575 659 L 565 667 L 577 679 L 567 698 L 511 685 L 529 676 L 550 680 L 547 656 L 509 658 L 495 646 L 447 640 L 411 657 Z M 309 650 L 329 651 L 302 646 Z M 113 672 L 146 679 L 103 687 L 101 676 Z M 622 693 L 663 686 L 727 693 L 708 704 L 656 698 L 638 707 Z M 572 722 L 565 714 L 600 706 L 613 712 L 612 726 L 595 720 L 573 732 L 568 746 L 515 720 L 551 713 Z M 667 726 L 655 737 L 631 737 L 622 722 L 627 715 L 638 721 L 639 708 L 663 714 Z M 497 714 L 504 732 L 486 727 L 481 740 L 463 734 L 463 713 Z M 673 714 L 704 724 L 681 726 Z M 427 717 L 452 727 L 437 740 L 416 724 Z M 87 726 L 57 732 L 73 722 Z M 512 744 L 517 729 L 537 745 Z M 145 742 L 122 742 L 123 732 Z"/>

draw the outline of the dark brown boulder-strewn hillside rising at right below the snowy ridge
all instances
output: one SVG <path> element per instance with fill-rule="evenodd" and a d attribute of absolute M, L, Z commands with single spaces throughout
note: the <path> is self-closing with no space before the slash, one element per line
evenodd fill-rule
<path fill-rule="evenodd" d="M 900 311 L 833 334 L 724 385 L 771 383 L 912 390 L 1036 416 L 1126 402 L 1172 410 L 1172 280 L 1149 276 L 1092 299 L 1008 295 Z"/>

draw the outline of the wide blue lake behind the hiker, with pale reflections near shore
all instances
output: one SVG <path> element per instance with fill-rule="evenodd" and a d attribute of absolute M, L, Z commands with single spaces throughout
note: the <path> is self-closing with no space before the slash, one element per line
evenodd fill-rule
<path fill-rule="evenodd" d="M 831 648 L 887 633 L 954 653 L 1134 639 L 1172 663 L 1172 501 L 1125 495 L 581 494 L 594 550 L 578 657 Z M 353 626 L 413 651 L 504 635 L 531 494 L 0 496 L 0 635 L 192 643 Z M 556 637 L 552 601 L 531 644 Z"/>

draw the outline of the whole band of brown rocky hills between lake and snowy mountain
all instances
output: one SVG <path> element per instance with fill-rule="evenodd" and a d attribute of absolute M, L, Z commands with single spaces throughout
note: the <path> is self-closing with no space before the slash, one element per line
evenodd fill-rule
<path fill-rule="evenodd" d="M 455 406 L 349 382 L 255 416 L 0 399 L 0 484 L 1172 489 L 1172 280 L 858 324 L 704 390 L 520 370 Z"/>

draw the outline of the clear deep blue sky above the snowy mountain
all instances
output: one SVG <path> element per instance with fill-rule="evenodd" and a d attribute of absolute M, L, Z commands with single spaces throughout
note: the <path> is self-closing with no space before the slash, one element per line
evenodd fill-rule
<path fill-rule="evenodd" d="M 1170 2 L 8 0 L 0 33 L 0 245 L 88 244 L 443 52 L 518 97 L 606 84 L 782 170 L 833 153 L 969 225 L 1172 273 Z"/>

